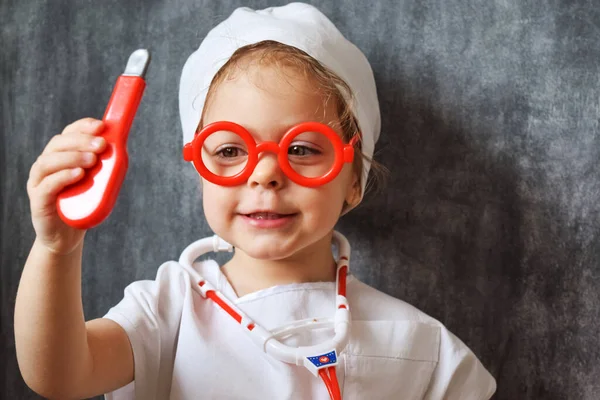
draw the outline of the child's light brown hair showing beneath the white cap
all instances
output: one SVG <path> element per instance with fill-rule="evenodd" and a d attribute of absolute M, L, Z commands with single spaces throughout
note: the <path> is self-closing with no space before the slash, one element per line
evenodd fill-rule
<path fill-rule="evenodd" d="M 199 128 L 203 126 L 207 105 L 219 84 L 226 78 L 231 77 L 236 70 L 250 65 L 250 63 L 253 65 L 275 66 L 282 71 L 286 68 L 292 68 L 294 71 L 300 72 L 304 77 L 312 80 L 317 85 L 319 91 L 323 93 L 324 105 L 330 99 L 335 101 L 344 142 L 349 143 L 354 136 L 360 134 L 358 122 L 351 108 L 354 96 L 348 84 L 306 52 L 273 40 L 264 40 L 240 47 L 219 69 L 213 77 L 206 94 Z M 371 170 L 374 174 L 370 175 L 372 178 L 367 181 L 365 192 L 368 192 L 371 187 L 374 187 L 377 191 L 380 189 L 380 183 L 383 181 L 385 168 L 362 153 L 362 143 L 360 140 L 355 145 L 355 150 L 360 154 L 360 157 L 354 157 L 353 162 L 353 171 L 357 177 L 357 184 L 360 187 L 363 179 L 363 163 L 367 160 L 371 163 Z"/>

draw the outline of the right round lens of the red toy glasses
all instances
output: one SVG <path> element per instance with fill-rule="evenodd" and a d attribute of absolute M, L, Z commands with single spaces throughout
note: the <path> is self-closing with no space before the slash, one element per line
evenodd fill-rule
<path fill-rule="evenodd" d="M 319 178 L 327 173 L 335 160 L 333 143 L 319 132 L 303 132 L 287 150 L 290 166 L 306 178 Z"/>

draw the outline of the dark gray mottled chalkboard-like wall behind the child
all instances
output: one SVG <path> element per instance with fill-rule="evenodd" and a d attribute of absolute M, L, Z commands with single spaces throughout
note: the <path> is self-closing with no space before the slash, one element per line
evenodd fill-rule
<path fill-rule="evenodd" d="M 312 2 L 367 55 L 388 190 L 340 222 L 366 282 L 444 322 L 497 399 L 600 398 L 600 11 L 596 0 Z M 153 53 L 111 217 L 88 233 L 87 318 L 209 234 L 180 157 L 177 87 L 203 35 L 272 1 L 0 1 L 0 394 L 36 396 L 13 339 L 34 234 L 25 183 L 51 136 L 100 118 Z"/>

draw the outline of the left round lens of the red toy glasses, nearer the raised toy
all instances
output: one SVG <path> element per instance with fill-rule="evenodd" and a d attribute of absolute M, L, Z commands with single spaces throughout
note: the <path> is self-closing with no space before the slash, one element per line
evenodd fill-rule
<path fill-rule="evenodd" d="M 202 145 L 202 162 L 215 175 L 231 177 L 240 173 L 248 162 L 248 146 L 236 133 L 217 131 Z"/>

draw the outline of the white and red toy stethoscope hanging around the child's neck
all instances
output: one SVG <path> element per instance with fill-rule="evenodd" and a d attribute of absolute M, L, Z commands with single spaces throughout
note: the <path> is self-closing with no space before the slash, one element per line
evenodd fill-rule
<path fill-rule="evenodd" d="M 333 318 L 309 318 L 294 321 L 269 331 L 244 314 L 232 301 L 219 292 L 192 266 L 194 261 L 208 252 L 233 251 L 233 246 L 218 236 L 200 239 L 181 253 L 179 263 L 189 273 L 192 285 L 203 298 L 209 298 L 235 319 L 240 327 L 263 352 L 289 364 L 306 367 L 313 375 L 321 377 L 332 400 L 341 400 L 341 391 L 335 367 L 350 335 L 350 307 L 346 299 L 346 276 L 350 261 L 350 244 L 339 232 L 333 232 L 333 242 L 338 248 L 336 270 L 336 300 Z M 334 329 L 333 338 L 313 346 L 292 347 L 279 341 L 296 332 L 317 329 Z"/>

